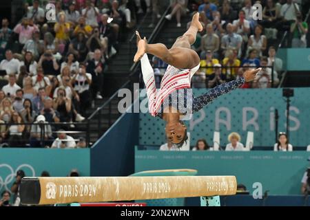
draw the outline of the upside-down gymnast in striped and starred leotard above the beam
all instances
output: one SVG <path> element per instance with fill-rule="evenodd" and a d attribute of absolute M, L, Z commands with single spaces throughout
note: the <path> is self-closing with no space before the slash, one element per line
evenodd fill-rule
<path fill-rule="evenodd" d="M 243 74 L 243 77 L 210 89 L 202 96 L 197 98 L 190 96 L 189 98 L 192 98 L 192 106 L 185 106 L 186 109 L 180 107 L 178 104 L 179 98 L 172 98 L 172 94 L 175 92 L 187 94 L 187 89 L 191 86 L 191 78 L 200 67 L 200 58 L 191 49 L 191 45 L 196 41 L 197 32 L 202 30 L 203 26 L 199 22 L 199 13 L 196 13 L 192 18 L 189 30 L 183 36 L 178 37 L 169 50 L 161 43 L 148 44 L 147 40 L 145 38 L 141 39 L 140 34 L 136 32 L 138 50 L 134 56 L 134 62 L 141 61 L 143 81 L 147 88 L 149 112 L 154 117 L 165 120 L 167 140 L 178 148 L 183 146 L 187 140 L 187 129 L 181 120 L 185 113 L 188 113 L 188 108 L 190 108 L 192 113 L 199 111 L 219 96 L 237 89 L 245 82 L 254 80 L 256 74 L 260 71 L 260 68 L 248 70 Z M 161 89 L 158 91 L 156 91 L 154 71 L 149 63 L 147 54 L 157 56 L 169 65 L 161 80 Z M 168 104 L 164 104 L 164 102 Z"/>

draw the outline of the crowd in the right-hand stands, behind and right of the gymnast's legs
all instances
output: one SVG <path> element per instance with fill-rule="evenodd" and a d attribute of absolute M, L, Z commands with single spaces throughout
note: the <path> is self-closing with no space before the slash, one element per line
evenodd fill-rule
<path fill-rule="evenodd" d="M 262 20 L 254 13 L 254 4 L 262 5 Z M 278 45 L 307 47 L 307 1 L 174 1 L 172 12 L 181 27 L 181 16 L 189 11 L 200 12 L 204 31 L 198 33 L 192 49 L 200 54 L 200 71 L 192 78 L 196 88 L 213 88 L 242 76 L 249 68 L 262 67 L 253 83 L 243 88 L 269 88 L 280 83 L 282 60 L 276 57 Z M 305 7 L 307 8 L 307 7 Z M 309 8 L 309 5 L 308 5 Z M 189 23 L 187 24 L 189 25 Z M 282 40 L 282 37 L 286 36 Z M 163 76 L 167 64 L 153 58 L 156 74 Z M 160 77 L 158 77 L 160 80 Z"/>

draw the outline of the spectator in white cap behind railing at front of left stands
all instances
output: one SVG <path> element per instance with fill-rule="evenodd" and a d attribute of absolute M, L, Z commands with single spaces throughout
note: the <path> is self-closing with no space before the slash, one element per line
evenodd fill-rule
<path fill-rule="evenodd" d="M 52 127 L 45 121 L 43 115 L 39 115 L 37 120 L 32 124 L 30 131 L 30 147 L 46 147 L 52 144 Z"/>

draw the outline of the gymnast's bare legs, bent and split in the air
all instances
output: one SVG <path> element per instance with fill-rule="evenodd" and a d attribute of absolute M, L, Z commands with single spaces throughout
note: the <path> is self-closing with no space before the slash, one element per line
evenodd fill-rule
<path fill-rule="evenodd" d="M 152 54 L 161 58 L 163 61 L 178 69 L 192 69 L 199 65 L 200 58 L 198 54 L 190 49 L 196 41 L 198 31 L 202 31 L 203 26 L 199 22 L 199 13 L 194 14 L 189 30 L 180 36 L 171 49 L 167 49 L 162 43 L 147 44 L 146 39 L 138 42 L 138 51 L 134 56 L 134 62 L 138 62 L 142 56 Z"/>

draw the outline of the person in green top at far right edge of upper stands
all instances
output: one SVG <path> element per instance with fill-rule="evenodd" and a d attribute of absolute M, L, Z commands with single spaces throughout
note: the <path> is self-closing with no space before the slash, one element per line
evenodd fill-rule
<path fill-rule="evenodd" d="M 307 47 L 307 33 L 308 24 L 307 22 L 302 21 L 302 14 L 298 12 L 296 21 L 291 24 L 291 34 L 293 34 L 291 47 Z"/>

